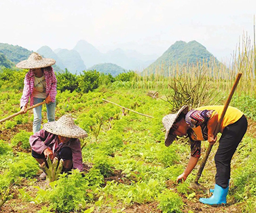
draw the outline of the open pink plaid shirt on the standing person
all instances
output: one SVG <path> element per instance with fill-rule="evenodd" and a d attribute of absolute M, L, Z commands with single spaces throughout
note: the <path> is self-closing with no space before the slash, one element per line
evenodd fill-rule
<path fill-rule="evenodd" d="M 57 80 L 53 72 L 53 67 L 51 67 L 50 71 L 44 70 L 43 74 L 45 76 L 45 82 L 46 82 L 46 94 L 47 96 L 50 95 L 52 102 L 54 102 L 57 94 L 57 90 L 56 90 Z M 28 71 L 24 79 L 24 88 L 23 88 L 22 97 L 20 99 L 20 107 L 25 106 L 28 103 L 29 99 L 30 99 L 30 106 L 33 106 L 32 93 L 33 93 L 34 77 L 35 77 L 35 74 L 33 74 L 33 71 L 30 69 L 30 71 Z"/>

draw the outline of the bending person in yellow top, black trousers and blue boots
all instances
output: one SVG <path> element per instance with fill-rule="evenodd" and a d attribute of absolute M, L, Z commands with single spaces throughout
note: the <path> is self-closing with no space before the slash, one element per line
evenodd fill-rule
<path fill-rule="evenodd" d="M 165 146 L 170 146 L 177 136 L 187 135 L 191 142 L 191 156 L 184 172 L 177 178 L 177 182 L 186 180 L 194 169 L 201 155 L 201 140 L 208 140 L 210 144 L 216 142 L 213 133 L 221 117 L 224 106 L 202 106 L 188 111 L 188 106 L 182 106 L 177 114 L 163 117 L 166 129 Z M 215 154 L 215 189 L 209 198 L 200 198 L 201 203 L 221 205 L 226 203 L 230 179 L 230 161 L 238 144 L 247 130 L 247 120 L 237 108 L 229 106 L 221 123 L 219 148 Z"/>

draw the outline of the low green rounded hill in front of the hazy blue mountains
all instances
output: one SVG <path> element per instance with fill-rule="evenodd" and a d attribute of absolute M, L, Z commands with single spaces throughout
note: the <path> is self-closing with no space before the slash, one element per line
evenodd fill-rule
<path fill-rule="evenodd" d="M 88 70 L 96 70 L 100 73 L 105 73 L 105 74 L 112 74 L 112 76 L 117 76 L 119 73 L 123 73 L 125 69 L 122 67 L 117 66 L 114 63 L 100 63 L 96 64 L 93 67 L 90 67 Z"/>

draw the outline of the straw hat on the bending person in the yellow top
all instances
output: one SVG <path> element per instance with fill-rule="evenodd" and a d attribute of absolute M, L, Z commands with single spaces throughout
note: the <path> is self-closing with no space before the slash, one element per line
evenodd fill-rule
<path fill-rule="evenodd" d="M 173 123 L 176 122 L 179 115 L 183 112 L 186 114 L 188 112 L 188 106 L 182 106 L 176 114 L 167 114 L 167 116 L 163 117 L 163 126 L 165 127 L 165 146 L 170 146 L 173 143 L 173 140 L 176 139 L 176 136 L 173 134 L 169 134 L 171 127 L 173 127 Z"/>

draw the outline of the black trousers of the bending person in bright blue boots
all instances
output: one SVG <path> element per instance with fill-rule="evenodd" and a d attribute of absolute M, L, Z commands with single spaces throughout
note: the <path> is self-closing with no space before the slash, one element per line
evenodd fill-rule
<path fill-rule="evenodd" d="M 238 144 L 247 130 L 247 119 L 243 115 L 237 122 L 226 126 L 219 140 L 219 148 L 215 154 L 217 174 L 215 183 L 222 188 L 228 187 L 230 179 L 230 161 Z"/>

